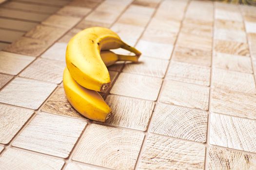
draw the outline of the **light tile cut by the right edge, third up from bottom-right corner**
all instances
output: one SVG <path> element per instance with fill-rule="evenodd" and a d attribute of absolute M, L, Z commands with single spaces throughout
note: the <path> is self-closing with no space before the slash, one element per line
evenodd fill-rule
<path fill-rule="evenodd" d="M 211 110 L 232 116 L 256 119 L 254 94 L 212 89 Z"/>

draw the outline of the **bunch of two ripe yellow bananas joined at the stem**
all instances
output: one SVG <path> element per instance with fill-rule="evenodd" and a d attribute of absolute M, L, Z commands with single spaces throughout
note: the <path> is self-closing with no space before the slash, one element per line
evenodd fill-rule
<path fill-rule="evenodd" d="M 111 49 L 122 48 L 135 55 L 119 55 Z M 104 122 L 111 109 L 99 92 L 111 86 L 107 66 L 117 61 L 138 62 L 140 52 L 124 43 L 107 28 L 92 27 L 76 34 L 66 49 L 63 86 L 71 105 L 83 116 Z"/>

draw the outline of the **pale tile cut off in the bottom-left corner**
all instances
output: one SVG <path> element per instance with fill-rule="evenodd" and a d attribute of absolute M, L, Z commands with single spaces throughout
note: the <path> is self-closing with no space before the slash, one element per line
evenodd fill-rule
<path fill-rule="evenodd" d="M 64 160 L 9 148 L 0 157 L 1 170 L 61 170 Z"/>

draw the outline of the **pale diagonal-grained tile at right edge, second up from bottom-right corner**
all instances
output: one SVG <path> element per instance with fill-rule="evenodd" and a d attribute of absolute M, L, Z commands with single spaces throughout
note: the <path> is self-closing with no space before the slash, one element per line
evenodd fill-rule
<path fill-rule="evenodd" d="M 210 144 L 256 153 L 256 121 L 211 114 Z"/>

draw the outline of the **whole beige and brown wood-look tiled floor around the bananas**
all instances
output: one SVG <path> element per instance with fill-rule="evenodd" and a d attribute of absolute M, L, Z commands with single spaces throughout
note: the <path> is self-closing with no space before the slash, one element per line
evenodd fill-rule
<path fill-rule="evenodd" d="M 11 0 L 0 23 L 0 170 L 256 169 L 256 7 Z M 142 52 L 109 67 L 105 123 L 74 110 L 62 85 L 69 39 L 92 26 Z"/>

